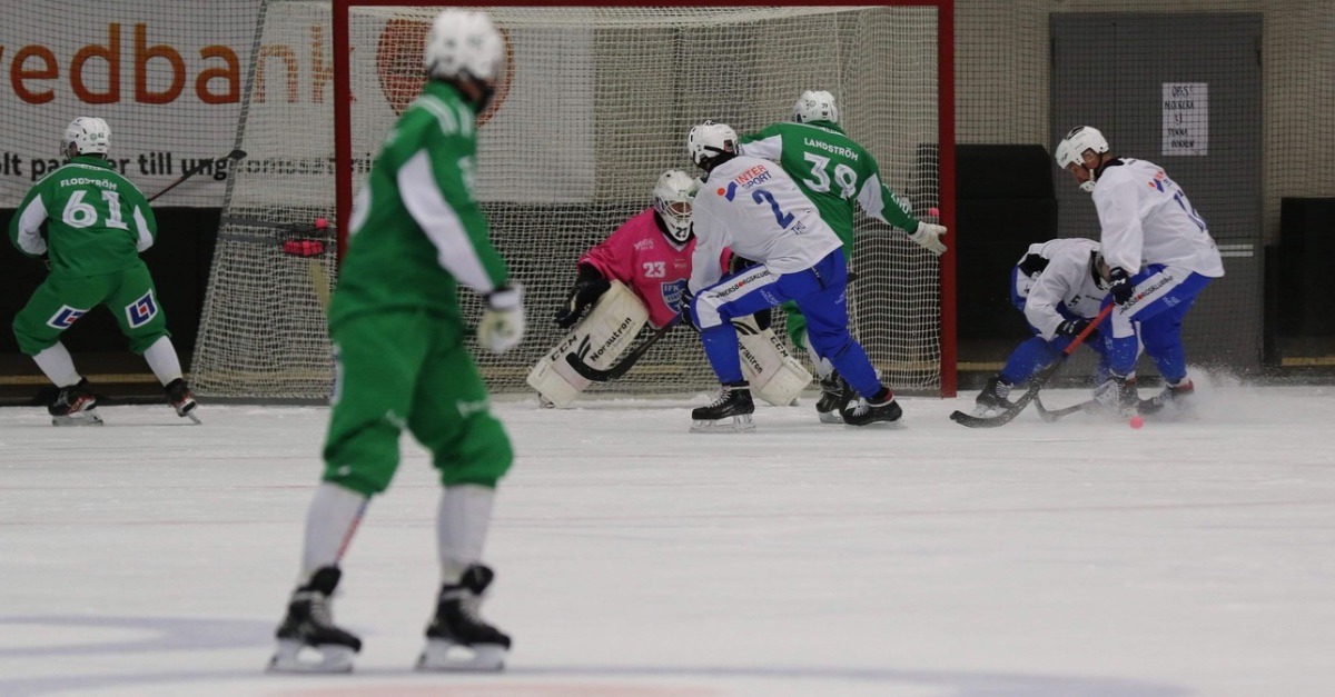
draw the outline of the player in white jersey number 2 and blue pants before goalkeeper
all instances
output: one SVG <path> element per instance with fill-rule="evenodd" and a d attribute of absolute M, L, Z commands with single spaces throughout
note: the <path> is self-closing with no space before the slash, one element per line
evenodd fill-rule
<path fill-rule="evenodd" d="M 686 150 L 709 174 L 696 195 L 698 242 L 682 318 L 700 330 L 705 354 L 722 383 L 714 403 L 692 413 L 692 430 L 753 427 L 754 406 L 742 378 L 732 319 L 785 300 L 796 302 L 806 316 L 817 353 L 829 357 L 865 399 L 852 407 L 845 405 L 840 410 L 844 421 L 862 426 L 898 419 L 902 410 L 894 395 L 849 335 L 842 242 L 821 220 L 816 206 L 777 163 L 737 155 L 737 132 L 729 126 L 705 122 L 692 128 Z M 720 278 L 709 260 L 717 259 L 724 247 L 757 264 Z"/>

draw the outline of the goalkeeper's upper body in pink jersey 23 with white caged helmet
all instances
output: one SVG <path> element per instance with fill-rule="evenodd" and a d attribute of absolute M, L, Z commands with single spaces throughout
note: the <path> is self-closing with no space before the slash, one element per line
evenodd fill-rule
<path fill-rule="evenodd" d="M 677 306 L 690 278 L 696 235 L 690 228 L 692 200 L 700 183 L 681 170 L 658 178 L 650 208 L 635 214 L 579 258 L 575 284 L 557 310 L 557 326 L 570 328 L 611 287 L 625 283 L 649 311 L 649 323 L 665 327 L 677 319 Z M 730 254 L 725 250 L 720 264 Z"/>

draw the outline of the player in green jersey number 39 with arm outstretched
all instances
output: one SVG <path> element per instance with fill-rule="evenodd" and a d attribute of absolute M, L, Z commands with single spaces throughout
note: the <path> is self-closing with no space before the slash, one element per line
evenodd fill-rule
<path fill-rule="evenodd" d="M 741 152 L 777 162 L 797 182 L 798 188 L 816 204 L 821 219 L 844 242 L 845 260 L 852 260 L 853 256 L 854 202 L 866 215 L 904 230 L 909 239 L 932 254 L 945 251 L 945 244 L 941 243 L 945 227 L 920 222 L 913 216 L 909 203 L 885 187 L 876 158 L 840 128 L 838 107 L 829 92 L 802 92 L 793 105 L 790 123 L 776 123 L 757 134 L 741 136 Z M 793 303 L 785 303 L 784 310 L 788 312 L 788 334 L 793 344 L 810 350 L 806 319 Z M 845 385 L 828 357 L 816 358 L 822 391 L 816 411 L 824 422 L 844 423 L 837 407 Z"/>

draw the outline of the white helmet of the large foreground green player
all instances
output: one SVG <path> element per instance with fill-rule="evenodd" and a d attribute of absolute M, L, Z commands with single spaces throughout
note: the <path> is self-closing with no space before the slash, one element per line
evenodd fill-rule
<path fill-rule="evenodd" d="M 505 40 L 486 12 L 446 9 L 426 35 L 422 64 L 441 80 L 473 77 L 490 83 L 501 72 Z"/>

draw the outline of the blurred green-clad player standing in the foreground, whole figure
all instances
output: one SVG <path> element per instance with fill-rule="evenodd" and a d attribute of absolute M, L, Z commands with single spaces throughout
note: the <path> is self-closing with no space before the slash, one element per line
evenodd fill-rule
<path fill-rule="evenodd" d="M 503 59 L 487 15 L 441 13 L 426 40 L 427 84 L 355 202 L 330 306 L 338 378 L 324 475 L 272 670 L 351 669 L 362 642 L 332 624 L 330 596 L 362 511 L 398 469 L 403 429 L 431 451 L 445 486 L 437 509 L 442 586 L 418 668 L 495 670 L 509 650 L 510 638 L 477 610 L 493 578 L 481 563 L 491 502 L 513 450 L 465 344 L 457 292 L 462 283 L 486 296 L 478 343 L 495 353 L 519 343 L 521 290 L 509 283 L 473 195 L 477 116 Z"/>

